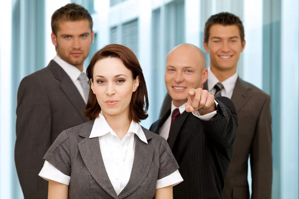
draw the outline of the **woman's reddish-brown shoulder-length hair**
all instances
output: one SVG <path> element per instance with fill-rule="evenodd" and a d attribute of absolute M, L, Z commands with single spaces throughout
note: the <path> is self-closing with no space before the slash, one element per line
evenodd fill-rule
<path fill-rule="evenodd" d="M 147 111 L 149 109 L 149 99 L 146 81 L 136 55 L 128 47 L 119 44 L 110 44 L 96 52 L 86 70 L 88 79 L 94 81 L 93 71 L 95 64 L 99 60 L 108 57 L 121 59 L 126 68 L 132 72 L 134 79 L 139 76 L 139 87 L 137 88 L 136 92 L 133 93 L 130 102 L 129 118 L 135 122 L 140 122 L 141 120 L 148 118 L 149 115 L 147 114 Z M 101 106 L 98 103 L 96 95 L 92 92 L 90 86 L 86 111 L 83 113 L 89 119 L 95 119 L 98 117 L 100 112 Z"/>

